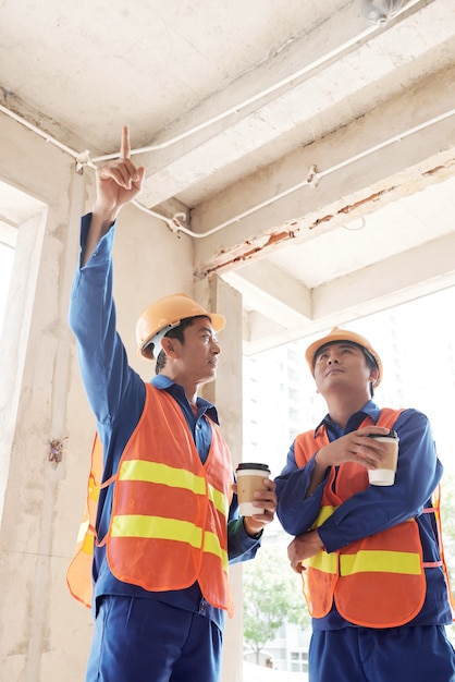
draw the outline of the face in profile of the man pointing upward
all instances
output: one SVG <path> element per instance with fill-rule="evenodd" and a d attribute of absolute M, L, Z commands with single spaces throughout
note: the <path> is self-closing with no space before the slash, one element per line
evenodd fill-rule
<path fill-rule="evenodd" d="M 221 349 L 210 319 L 198 317 L 184 331 L 185 342 L 179 343 L 181 369 L 197 383 L 212 381 L 217 376 Z"/>

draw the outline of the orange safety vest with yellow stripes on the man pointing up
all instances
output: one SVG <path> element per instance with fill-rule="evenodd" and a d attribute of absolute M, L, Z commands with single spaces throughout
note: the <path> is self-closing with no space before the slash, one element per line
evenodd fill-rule
<path fill-rule="evenodd" d="M 184 589 L 197 581 L 209 604 L 232 614 L 228 575 L 230 452 L 209 422 L 212 441 L 202 465 L 179 405 L 165 391 L 146 386 L 144 412 L 118 472 L 102 484 L 114 483 L 115 488 L 110 527 L 99 545 L 107 544 L 109 567 L 119 580 L 150 592 Z M 93 464 L 99 465 L 98 442 L 93 452 L 98 462 Z M 96 480 L 91 472 L 88 501 Z M 88 510 L 83 520 L 88 535 L 79 534 L 66 576 L 72 594 L 85 604 L 87 590 L 75 593 L 81 583 L 78 565 L 84 568 L 93 549 L 94 521 Z"/>

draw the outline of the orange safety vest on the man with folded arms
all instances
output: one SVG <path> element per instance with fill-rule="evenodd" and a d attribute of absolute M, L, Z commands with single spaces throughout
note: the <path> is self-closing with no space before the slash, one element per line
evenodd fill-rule
<path fill-rule="evenodd" d="M 401 412 L 382 410 L 377 426 L 392 428 Z M 372 418 L 367 417 L 361 426 L 372 423 Z M 304 466 L 328 443 L 324 426 L 316 436 L 313 431 L 298 435 L 295 440 L 297 465 Z M 367 487 L 365 466 L 346 462 L 340 467 L 331 467 L 321 510 L 312 528 L 321 526 L 340 504 Z M 434 510 L 429 508 L 426 511 Z M 303 564 L 304 595 L 313 618 L 327 616 L 334 601 L 339 613 L 352 623 L 366 628 L 393 628 L 409 622 L 423 606 L 426 564 L 415 519 L 351 543 L 337 551 L 328 553 L 322 550 Z"/>

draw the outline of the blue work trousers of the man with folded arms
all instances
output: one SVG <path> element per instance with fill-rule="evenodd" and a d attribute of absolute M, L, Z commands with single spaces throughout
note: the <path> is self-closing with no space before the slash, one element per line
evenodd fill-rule
<path fill-rule="evenodd" d="M 455 682 L 443 625 L 315 631 L 309 682 Z"/>

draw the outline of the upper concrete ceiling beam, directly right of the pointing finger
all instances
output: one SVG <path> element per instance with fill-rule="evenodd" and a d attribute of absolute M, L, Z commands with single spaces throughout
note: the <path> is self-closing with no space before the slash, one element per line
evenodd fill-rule
<path fill-rule="evenodd" d="M 175 129 L 168 129 L 165 139 L 230 108 L 234 113 L 153 151 L 150 167 L 155 170 L 147 176 L 142 200 L 151 208 L 175 196 L 194 207 L 230 183 L 230 168 L 234 182 L 239 160 L 244 174 L 253 174 L 396 96 L 399 88 L 410 88 L 419 74 L 447 66 L 455 51 L 450 42 L 455 16 L 448 4 L 419 4 L 411 16 L 405 16 L 384 31 L 367 31 L 357 4 L 345 5 L 318 31 L 300 36 L 254 73 L 218 93 Z M 294 73 L 293 81 L 269 92 Z M 260 92 L 263 97 L 255 100 Z M 251 98 L 249 106 L 235 109 Z M 160 144 L 160 137 L 153 142 Z"/>

